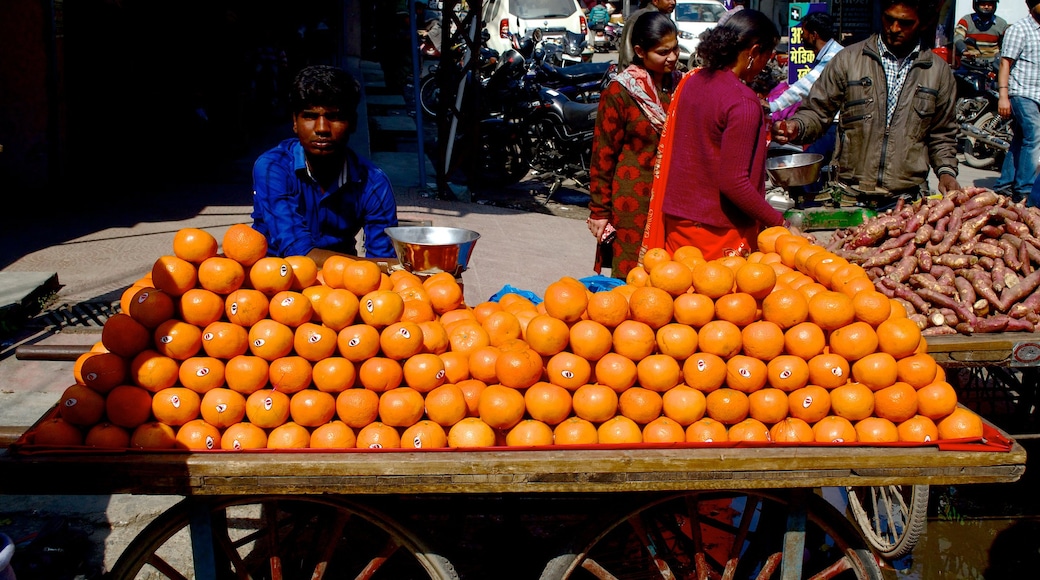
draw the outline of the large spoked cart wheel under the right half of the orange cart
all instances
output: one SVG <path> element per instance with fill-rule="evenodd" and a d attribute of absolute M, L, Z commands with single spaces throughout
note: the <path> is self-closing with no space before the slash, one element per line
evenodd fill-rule
<path fill-rule="evenodd" d="M 550 560 L 542 580 L 882 578 L 849 520 L 807 490 L 669 496 L 593 534 Z"/>

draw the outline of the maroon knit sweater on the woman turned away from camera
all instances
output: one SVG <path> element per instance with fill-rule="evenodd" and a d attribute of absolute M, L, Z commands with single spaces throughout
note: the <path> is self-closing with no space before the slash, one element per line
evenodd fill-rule
<path fill-rule="evenodd" d="M 765 118 L 751 88 L 731 71 L 703 70 L 686 80 L 672 114 L 665 213 L 720 228 L 783 223 L 765 201 Z"/>

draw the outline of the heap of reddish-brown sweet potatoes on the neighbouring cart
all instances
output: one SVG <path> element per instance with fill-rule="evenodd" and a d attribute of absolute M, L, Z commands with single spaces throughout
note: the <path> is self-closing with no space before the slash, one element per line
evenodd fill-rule
<path fill-rule="evenodd" d="M 861 265 L 926 336 L 1040 324 L 1040 209 L 991 189 L 898 204 L 825 245 Z"/>

